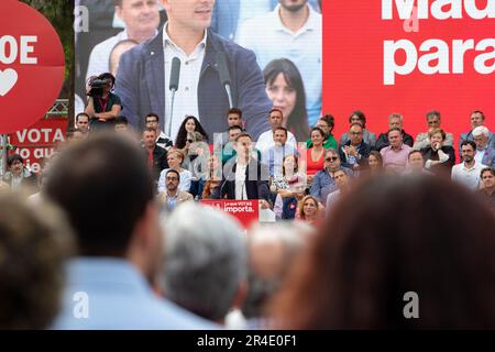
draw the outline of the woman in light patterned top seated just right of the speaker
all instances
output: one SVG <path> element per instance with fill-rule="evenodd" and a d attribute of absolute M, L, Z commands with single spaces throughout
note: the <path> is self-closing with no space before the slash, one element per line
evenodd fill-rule
<path fill-rule="evenodd" d="M 299 173 L 297 155 L 287 155 L 282 166 L 282 175 L 272 179 L 271 191 L 276 194 L 273 211 L 277 219 L 294 219 L 297 209 L 296 195 L 304 193 L 306 175 Z"/>

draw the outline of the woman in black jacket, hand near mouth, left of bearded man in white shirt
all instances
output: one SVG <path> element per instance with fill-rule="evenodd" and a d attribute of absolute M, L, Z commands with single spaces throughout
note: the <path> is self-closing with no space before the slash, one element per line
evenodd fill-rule
<path fill-rule="evenodd" d="M 436 175 L 448 174 L 455 164 L 455 151 L 452 146 L 443 145 L 446 132 L 441 129 L 432 129 L 428 132 L 430 145 L 421 150 L 425 158 L 425 167 Z"/>

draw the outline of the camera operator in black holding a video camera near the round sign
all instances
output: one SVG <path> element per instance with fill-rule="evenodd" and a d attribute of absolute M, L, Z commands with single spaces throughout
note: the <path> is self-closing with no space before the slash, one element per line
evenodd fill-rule
<path fill-rule="evenodd" d="M 90 117 L 90 130 L 112 128 L 122 110 L 119 96 L 111 92 L 116 77 L 110 73 L 101 74 L 89 84 L 88 105 L 85 112 Z"/>

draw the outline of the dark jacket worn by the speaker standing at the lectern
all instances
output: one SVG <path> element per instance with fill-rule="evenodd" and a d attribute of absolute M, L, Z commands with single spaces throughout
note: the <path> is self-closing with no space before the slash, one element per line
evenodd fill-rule
<path fill-rule="evenodd" d="M 223 177 L 220 187 L 218 187 L 211 198 L 220 199 L 227 195 L 228 199 L 235 199 L 235 169 L 238 164 L 235 158 L 231 158 L 223 167 Z M 248 199 L 270 200 L 268 168 L 260 161 L 251 158 L 245 168 L 245 191 Z"/>

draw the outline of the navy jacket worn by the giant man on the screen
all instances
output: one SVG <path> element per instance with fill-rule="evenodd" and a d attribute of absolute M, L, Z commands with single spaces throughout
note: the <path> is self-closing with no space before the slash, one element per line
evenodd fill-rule
<path fill-rule="evenodd" d="M 270 130 L 266 116 L 272 101 L 266 96 L 263 74 L 252 51 L 227 41 L 208 30 L 205 59 L 198 82 L 198 110 L 201 125 L 213 141 L 213 133 L 228 129 L 226 111 L 229 98 L 220 82 L 217 53 L 223 52 L 231 79 L 232 103 L 242 110 L 245 129 L 257 140 Z M 124 53 L 117 74 L 116 92 L 122 100 L 129 122 L 143 130 L 144 117 L 153 111 L 164 128 L 165 75 L 163 30 L 158 34 Z M 168 89 L 168 87 L 167 87 Z M 167 105 L 168 107 L 168 105 Z"/>

